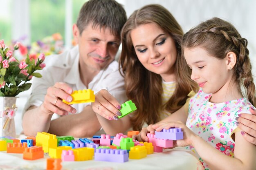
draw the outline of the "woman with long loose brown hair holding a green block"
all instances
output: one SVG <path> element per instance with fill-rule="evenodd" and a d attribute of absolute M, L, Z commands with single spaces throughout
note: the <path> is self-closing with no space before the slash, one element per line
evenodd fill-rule
<path fill-rule="evenodd" d="M 134 11 L 124 25 L 119 64 L 125 77 L 126 95 L 137 106 L 129 122 L 134 130 L 141 130 L 144 123 L 154 124 L 181 107 L 188 109 L 185 103 L 189 92 L 198 90 L 198 84 L 191 80 L 189 67 L 181 57 L 182 36 L 182 28 L 175 18 L 157 4 Z M 113 124 L 107 119 L 119 114 L 120 104 L 106 90 L 101 90 L 92 108 L 98 117 L 106 118 L 104 123 L 99 120 L 106 127 Z M 256 122 L 255 116 L 253 119 Z M 186 123 L 186 118 L 180 121 Z M 252 135 L 248 135 L 252 138 L 247 140 L 256 144 L 253 141 L 256 137 L 254 122 L 250 122 L 251 133 L 245 130 L 248 127 L 242 130 Z"/>

